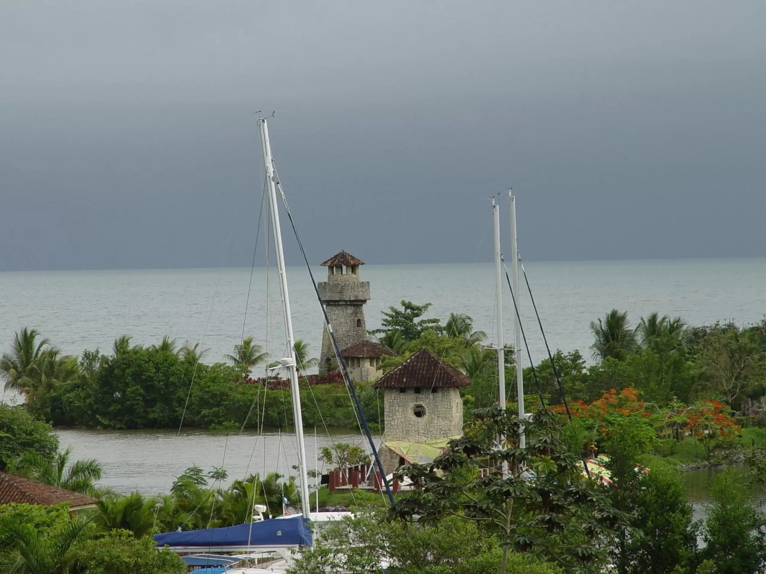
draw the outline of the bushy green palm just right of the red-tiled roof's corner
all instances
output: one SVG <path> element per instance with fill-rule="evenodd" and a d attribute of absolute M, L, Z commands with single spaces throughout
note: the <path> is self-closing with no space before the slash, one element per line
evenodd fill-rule
<path fill-rule="evenodd" d="M 130 530 L 136 538 L 155 534 L 160 531 L 159 504 L 156 497 L 145 498 L 139 492 L 113 494 L 96 503 L 93 523 L 103 530 Z"/>

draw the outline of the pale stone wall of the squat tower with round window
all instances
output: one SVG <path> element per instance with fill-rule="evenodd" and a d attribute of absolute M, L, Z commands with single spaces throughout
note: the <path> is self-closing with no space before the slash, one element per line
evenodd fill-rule
<path fill-rule="evenodd" d="M 416 405 L 426 409 L 424 416 L 414 415 Z M 463 434 L 463 401 L 455 388 L 437 389 L 431 393 L 422 388 L 421 393 L 408 388 L 384 389 L 385 441 L 426 442 Z"/>

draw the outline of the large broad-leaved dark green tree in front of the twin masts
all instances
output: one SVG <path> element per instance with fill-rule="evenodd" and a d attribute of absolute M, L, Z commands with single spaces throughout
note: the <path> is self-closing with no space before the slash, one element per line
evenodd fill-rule
<path fill-rule="evenodd" d="M 500 572 L 506 571 L 510 550 L 568 572 L 600 571 L 602 541 L 627 517 L 612 507 L 595 481 L 583 477 L 577 455 L 561 442 L 562 428 L 554 413 L 538 409 L 524 422 L 526 447 L 518 448 L 517 416 L 498 406 L 478 411 L 465 435 L 450 442 L 449 452 L 430 465 L 399 470 L 414 489 L 391 507 L 392 517 L 438 524 L 457 515 L 475 522 L 498 537 Z M 498 436 L 506 437 L 502 448 Z M 503 472 L 503 466 L 510 472 Z"/>

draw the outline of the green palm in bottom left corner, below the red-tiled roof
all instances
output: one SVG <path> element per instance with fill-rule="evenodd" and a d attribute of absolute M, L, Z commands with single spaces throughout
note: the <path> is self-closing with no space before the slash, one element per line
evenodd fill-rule
<path fill-rule="evenodd" d="M 74 562 L 72 550 L 93 534 L 93 525 L 83 517 L 74 517 L 64 527 L 36 530 L 20 518 L 9 520 L 5 539 L 11 550 L 3 572 L 8 574 L 66 574 Z"/>

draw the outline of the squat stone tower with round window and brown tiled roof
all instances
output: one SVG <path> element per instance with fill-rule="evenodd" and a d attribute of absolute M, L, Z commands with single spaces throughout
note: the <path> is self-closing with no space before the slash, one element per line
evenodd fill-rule
<path fill-rule="evenodd" d="M 383 390 L 385 441 L 427 442 L 462 435 L 458 389 L 468 384 L 468 377 L 437 355 L 417 351 L 374 385 Z"/>

